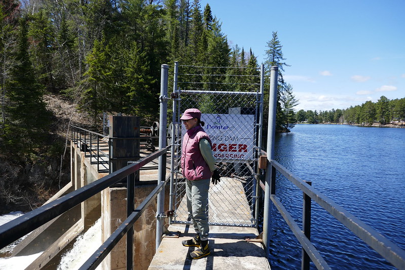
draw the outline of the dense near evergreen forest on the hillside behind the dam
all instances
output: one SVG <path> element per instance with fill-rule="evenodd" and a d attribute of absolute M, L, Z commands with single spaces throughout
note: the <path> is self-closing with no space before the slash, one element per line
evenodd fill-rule
<path fill-rule="evenodd" d="M 158 119 L 161 64 L 251 67 L 232 72 L 259 74 L 253 52 L 231 48 L 219 19 L 199 0 L 0 3 L 3 153 L 27 156 L 44 144 L 52 116 L 45 93 L 71 99 L 91 115 L 92 125 L 100 122 L 102 112 L 137 115 L 150 124 Z M 292 111 L 285 106 L 294 98 L 283 80 L 288 65 L 277 32 L 267 47 L 266 74 L 279 66 L 278 125 L 288 127 L 282 122 L 293 122 Z M 260 82 L 259 76 L 251 80 Z"/>

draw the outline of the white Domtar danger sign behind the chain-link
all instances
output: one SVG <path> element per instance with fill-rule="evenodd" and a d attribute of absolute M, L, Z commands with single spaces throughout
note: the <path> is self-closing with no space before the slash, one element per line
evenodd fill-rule
<path fill-rule="evenodd" d="M 252 160 L 254 115 L 202 113 L 216 161 Z"/>

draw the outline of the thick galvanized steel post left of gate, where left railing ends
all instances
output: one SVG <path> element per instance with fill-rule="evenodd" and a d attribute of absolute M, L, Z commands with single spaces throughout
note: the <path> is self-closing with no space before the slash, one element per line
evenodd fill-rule
<path fill-rule="evenodd" d="M 161 66 L 160 76 L 160 118 L 159 118 L 159 150 L 166 147 L 166 126 L 167 126 L 167 84 L 168 84 L 169 65 Z M 159 157 L 158 182 L 165 181 L 166 178 L 166 154 Z M 156 250 L 162 241 L 164 219 L 165 188 L 158 194 L 156 210 Z"/>

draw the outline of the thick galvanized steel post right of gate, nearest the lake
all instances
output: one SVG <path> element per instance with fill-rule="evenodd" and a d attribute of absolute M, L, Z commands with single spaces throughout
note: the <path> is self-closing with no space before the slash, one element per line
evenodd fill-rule
<path fill-rule="evenodd" d="M 271 160 L 274 160 L 274 143 L 276 136 L 276 111 L 277 111 L 277 78 L 278 78 L 278 66 L 272 66 L 270 68 L 270 95 L 269 95 L 269 123 L 267 127 L 267 170 L 266 170 L 266 188 L 265 188 L 265 206 L 264 206 L 264 218 L 263 218 L 263 243 L 266 247 L 266 256 L 269 256 L 270 246 L 270 213 L 271 213 L 271 201 L 270 195 L 274 193 L 274 188 L 270 188 L 274 185 L 275 170 L 271 166 Z M 273 183 L 272 183 L 273 182 Z"/>

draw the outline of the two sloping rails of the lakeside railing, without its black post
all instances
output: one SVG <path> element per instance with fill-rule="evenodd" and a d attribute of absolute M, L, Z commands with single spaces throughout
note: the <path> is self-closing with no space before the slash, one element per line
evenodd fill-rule
<path fill-rule="evenodd" d="M 386 237 L 377 232 L 373 227 L 365 224 L 359 218 L 351 214 L 349 211 L 345 210 L 343 207 L 336 204 L 332 199 L 329 199 L 325 195 L 321 194 L 318 190 L 312 187 L 310 184 L 302 180 L 301 178 L 295 176 L 284 166 L 279 164 L 275 160 L 270 161 L 271 170 L 277 170 L 282 175 L 284 175 L 290 182 L 300 188 L 305 195 L 309 196 L 314 202 L 316 202 L 320 207 L 328 211 L 332 216 L 334 216 L 338 221 L 340 221 L 345 227 L 351 230 L 356 236 L 358 236 L 364 243 L 369 245 L 375 251 L 377 251 L 381 256 L 383 256 L 388 262 L 397 267 L 398 269 L 405 269 L 405 250 L 401 249 L 392 241 L 388 240 Z M 268 172 L 269 173 L 269 172 Z M 273 177 L 272 177 L 273 178 Z M 273 178 L 275 179 L 275 177 Z M 275 186 L 275 183 L 271 184 Z M 264 190 L 264 185 L 260 182 L 260 186 Z M 310 240 L 300 229 L 299 225 L 294 221 L 294 219 L 289 215 L 288 211 L 284 208 L 282 203 L 275 196 L 275 190 L 271 192 L 270 199 L 277 207 L 280 214 L 283 216 L 284 220 L 287 222 L 288 226 L 291 228 L 294 235 L 303 246 L 305 252 L 309 255 L 311 260 L 314 262 L 318 269 L 328 269 L 329 266 L 323 260 L 319 252 L 312 245 Z M 304 211 L 304 209 L 303 209 Z M 305 213 L 303 214 L 303 216 Z"/>

